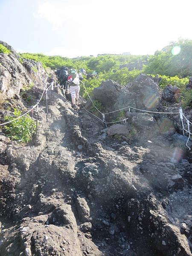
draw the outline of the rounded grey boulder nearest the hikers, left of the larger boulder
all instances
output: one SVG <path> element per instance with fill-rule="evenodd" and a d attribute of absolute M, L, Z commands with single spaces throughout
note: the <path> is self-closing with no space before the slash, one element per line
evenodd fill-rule
<path fill-rule="evenodd" d="M 120 85 L 110 80 L 102 82 L 101 86 L 94 88 L 93 96 L 105 108 L 111 108 L 119 96 Z"/>

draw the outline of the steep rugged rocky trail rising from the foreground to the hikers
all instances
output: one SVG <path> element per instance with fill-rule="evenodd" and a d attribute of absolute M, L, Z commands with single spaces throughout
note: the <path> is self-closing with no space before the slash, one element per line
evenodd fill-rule
<path fill-rule="evenodd" d="M 104 139 L 100 121 L 56 93 L 49 113 L 40 110 L 38 147 L 7 150 L 18 180 L 0 255 L 191 255 L 175 225 L 192 194 L 187 180 L 171 184 L 181 164 L 169 142 L 152 131 L 130 143 Z"/>

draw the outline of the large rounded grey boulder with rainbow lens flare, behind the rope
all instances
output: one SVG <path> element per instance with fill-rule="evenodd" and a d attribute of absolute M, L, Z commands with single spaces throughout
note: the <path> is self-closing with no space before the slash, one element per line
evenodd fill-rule
<path fill-rule="evenodd" d="M 151 76 L 141 74 L 120 92 L 115 108 L 131 106 L 152 110 L 157 108 L 160 99 L 161 91 L 157 83 Z"/>

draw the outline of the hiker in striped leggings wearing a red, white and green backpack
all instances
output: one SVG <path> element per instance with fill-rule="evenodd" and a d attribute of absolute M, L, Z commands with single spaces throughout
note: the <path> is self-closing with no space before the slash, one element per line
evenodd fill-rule
<path fill-rule="evenodd" d="M 71 94 L 71 100 L 72 100 L 72 107 L 73 109 L 77 109 L 78 106 L 78 99 L 79 99 L 79 90 L 80 90 L 80 80 L 79 80 L 79 74 L 74 68 L 71 68 L 68 70 L 68 79 L 69 82 L 69 90 Z"/>

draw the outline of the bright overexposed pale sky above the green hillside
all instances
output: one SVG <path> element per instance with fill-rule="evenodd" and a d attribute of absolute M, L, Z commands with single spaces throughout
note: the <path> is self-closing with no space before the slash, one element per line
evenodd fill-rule
<path fill-rule="evenodd" d="M 17 52 L 154 54 L 192 39 L 192 0 L 0 0 L 0 40 Z"/>

